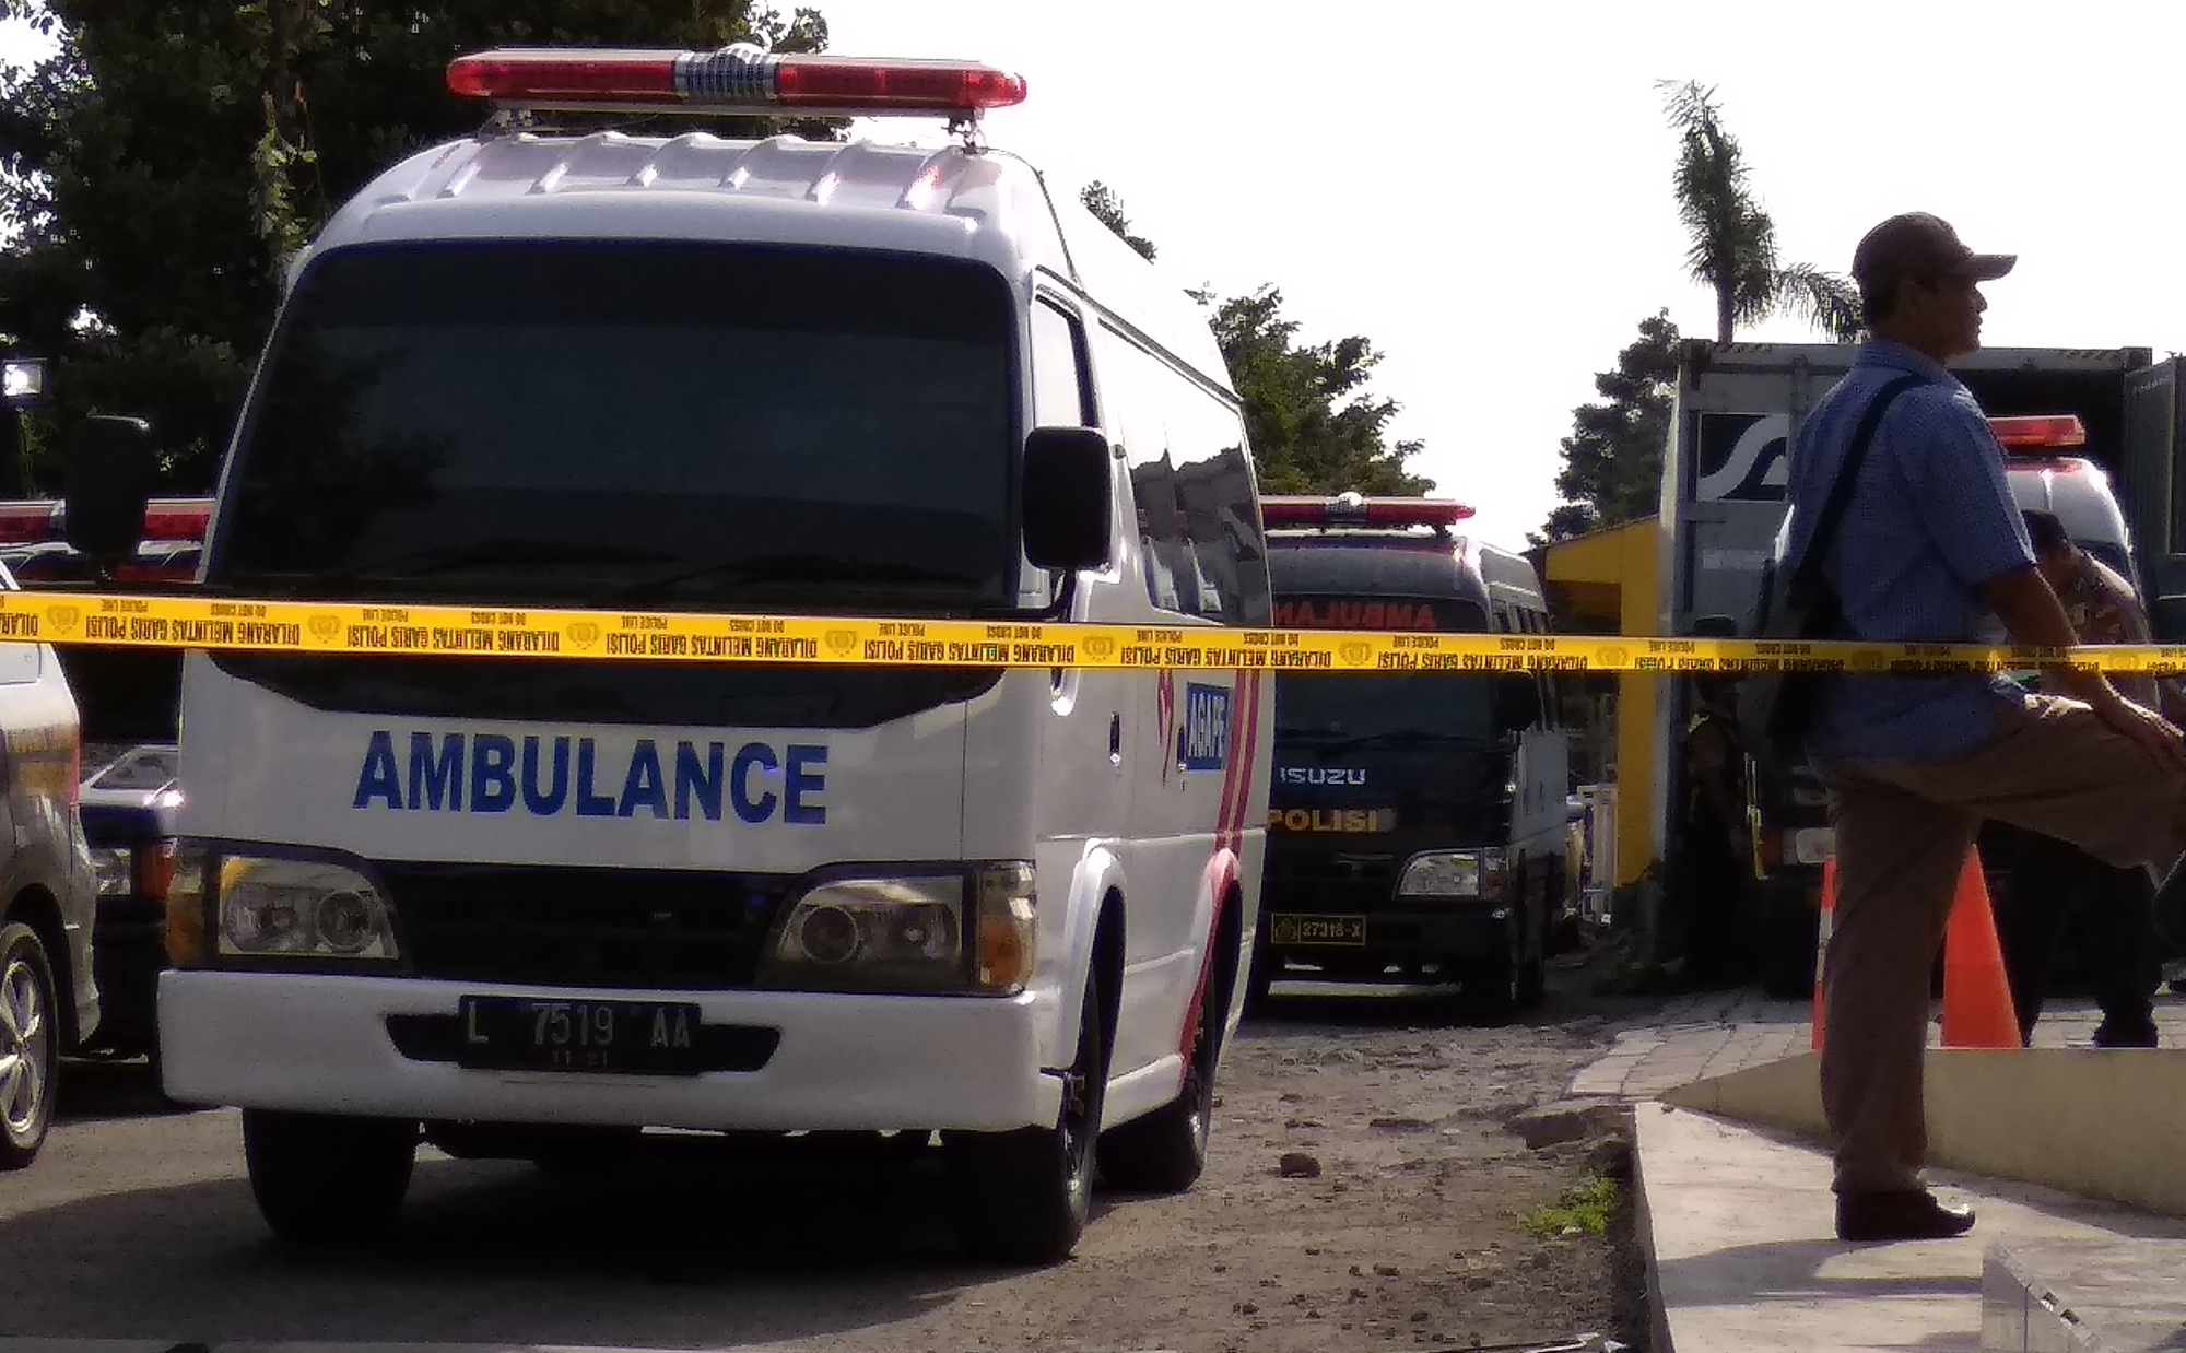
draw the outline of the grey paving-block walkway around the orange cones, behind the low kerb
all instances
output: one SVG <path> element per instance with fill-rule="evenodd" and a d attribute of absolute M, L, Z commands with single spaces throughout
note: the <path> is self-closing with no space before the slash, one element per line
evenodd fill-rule
<path fill-rule="evenodd" d="M 1810 1001 L 1771 1001 L 1758 992 L 1681 997 L 1657 1023 L 1618 1034 L 1615 1047 L 1585 1067 L 1570 1093 L 1650 1099 L 1694 1080 L 1777 1062 L 1808 1051 L 1810 1016 Z M 2035 1047 L 2088 1047 L 2099 1023 L 2103 1014 L 2094 1001 L 2053 997 L 2042 1005 Z M 2186 997 L 2158 997 L 2155 1023 L 2164 1047 L 2186 1047 Z M 1941 1043 L 1941 1027 L 1930 1025 L 1930 1043 Z"/>

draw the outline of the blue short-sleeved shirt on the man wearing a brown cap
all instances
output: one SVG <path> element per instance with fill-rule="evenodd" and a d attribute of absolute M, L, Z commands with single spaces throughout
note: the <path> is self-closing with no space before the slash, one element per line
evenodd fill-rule
<path fill-rule="evenodd" d="M 1994 643 L 1998 621 L 1978 588 L 2033 568 L 2026 522 L 2005 479 L 2005 452 L 1974 393 L 1928 356 L 1867 343 L 1808 413 L 1790 455 L 1790 538 L 1799 560 L 1869 400 L 1902 374 L 1897 396 L 1860 463 L 1858 483 L 1823 560 L 1843 608 L 1843 638 L 1871 643 Z M 2002 675 L 1825 678 L 1806 750 L 1817 765 L 1941 761 L 1996 734 Z"/>

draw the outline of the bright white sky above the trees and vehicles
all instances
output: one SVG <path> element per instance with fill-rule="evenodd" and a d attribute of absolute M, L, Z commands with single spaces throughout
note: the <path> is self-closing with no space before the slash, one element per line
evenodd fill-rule
<path fill-rule="evenodd" d="M 1274 282 L 1301 339 L 1373 339 L 1414 470 L 1508 544 L 1640 319 L 1714 326 L 1655 79 L 1718 85 L 1786 260 L 1843 271 L 1869 225 L 1932 210 L 2020 254 L 1991 345 L 2186 350 L 2175 0 L 818 4 L 837 52 L 1023 74 L 988 138 L 1058 190 L 1108 181 L 1178 286 Z"/>

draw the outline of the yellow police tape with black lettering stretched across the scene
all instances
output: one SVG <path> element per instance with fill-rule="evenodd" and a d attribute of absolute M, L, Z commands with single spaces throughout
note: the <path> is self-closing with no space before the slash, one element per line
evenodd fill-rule
<path fill-rule="evenodd" d="M 1246 671 L 2186 673 L 2186 647 L 1760 643 L 1574 634 L 1139 627 L 0 592 L 0 643 L 249 654 Z"/>

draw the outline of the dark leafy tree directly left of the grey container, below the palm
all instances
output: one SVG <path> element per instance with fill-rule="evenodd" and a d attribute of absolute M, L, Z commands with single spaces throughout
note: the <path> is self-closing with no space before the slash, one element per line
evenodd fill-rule
<path fill-rule="evenodd" d="M 1602 396 L 1572 411 L 1563 439 L 1556 494 L 1535 544 L 1570 540 L 1602 527 L 1653 516 L 1661 505 L 1661 455 L 1670 437 L 1670 391 L 1677 383 L 1677 326 L 1659 310 L 1640 321 L 1640 337 L 1618 352 L 1618 365 L 1594 378 Z"/>

